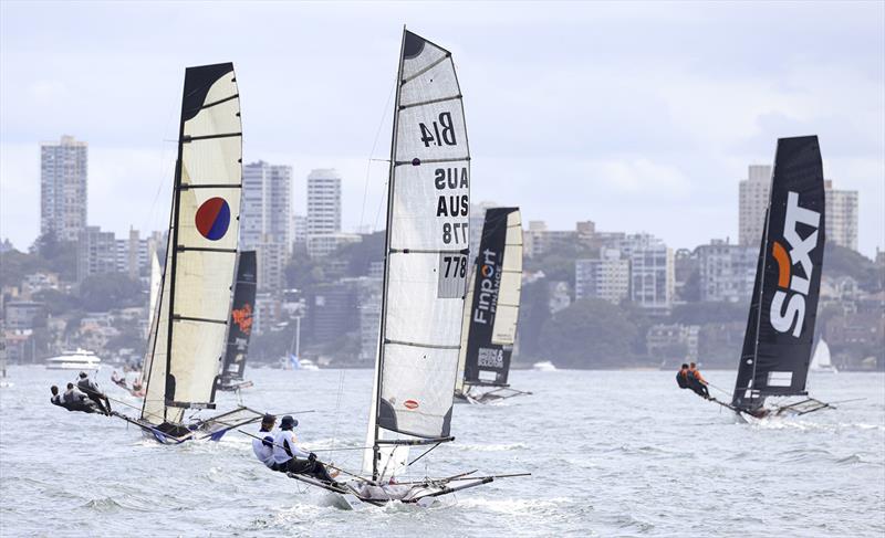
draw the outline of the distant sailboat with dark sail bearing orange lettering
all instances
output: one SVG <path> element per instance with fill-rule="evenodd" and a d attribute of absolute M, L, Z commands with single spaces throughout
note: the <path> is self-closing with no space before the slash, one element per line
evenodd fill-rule
<path fill-rule="evenodd" d="M 228 318 L 227 349 L 221 365 L 218 390 L 239 390 L 252 386 L 243 380 L 249 336 L 252 334 L 252 316 L 256 304 L 256 251 L 240 252 L 237 261 L 237 279 L 233 283 L 233 303 Z"/>

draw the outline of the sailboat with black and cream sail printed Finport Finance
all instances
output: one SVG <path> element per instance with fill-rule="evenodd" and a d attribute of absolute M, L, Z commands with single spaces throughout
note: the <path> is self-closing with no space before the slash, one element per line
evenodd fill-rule
<path fill-rule="evenodd" d="M 465 300 L 455 386 L 456 401 L 469 403 L 531 394 L 507 383 L 522 289 L 519 208 L 486 210 L 481 238 Z"/>

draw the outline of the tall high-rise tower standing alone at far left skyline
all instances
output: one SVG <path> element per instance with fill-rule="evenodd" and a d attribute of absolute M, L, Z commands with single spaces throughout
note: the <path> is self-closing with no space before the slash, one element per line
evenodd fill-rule
<path fill-rule="evenodd" d="M 72 136 L 40 145 L 40 233 L 77 241 L 86 229 L 87 145 Z"/>

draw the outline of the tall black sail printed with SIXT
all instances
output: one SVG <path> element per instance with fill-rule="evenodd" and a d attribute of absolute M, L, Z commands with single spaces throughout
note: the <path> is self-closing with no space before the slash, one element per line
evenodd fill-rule
<path fill-rule="evenodd" d="M 818 137 L 779 139 L 732 399 L 738 409 L 757 409 L 770 395 L 805 393 L 821 286 L 824 211 Z"/>

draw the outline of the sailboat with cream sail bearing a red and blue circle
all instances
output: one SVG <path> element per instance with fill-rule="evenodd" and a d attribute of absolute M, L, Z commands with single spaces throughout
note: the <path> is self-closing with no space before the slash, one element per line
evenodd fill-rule
<path fill-rule="evenodd" d="M 181 102 L 169 241 L 144 365 L 140 414 L 115 413 L 160 443 L 219 440 L 260 419 L 214 410 L 239 239 L 242 133 L 232 63 L 188 67 Z"/>

